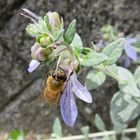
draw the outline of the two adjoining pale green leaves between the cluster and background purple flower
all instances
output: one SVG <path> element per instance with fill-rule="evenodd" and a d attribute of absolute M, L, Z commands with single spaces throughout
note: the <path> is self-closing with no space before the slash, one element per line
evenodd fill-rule
<path fill-rule="evenodd" d="M 122 54 L 123 43 L 124 38 L 121 38 L 107 45 L 101 53 L 90 52 L 83 60 L 82 65 L 92 67 L 101 63 L 104 63 L 104 65 L 114 64 Z"/>

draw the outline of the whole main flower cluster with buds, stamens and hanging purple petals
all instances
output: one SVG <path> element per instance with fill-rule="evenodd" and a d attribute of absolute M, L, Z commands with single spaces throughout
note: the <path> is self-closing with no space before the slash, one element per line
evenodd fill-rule
<path fill-rule="evenodd" d="M 48 12 L 44 18 L 38 17 L 31 11 L 23 9 L 23 16 L 30 18 L 33 23 L 26 28 L 29 35 L 36 38 L 35 44 L 31 47 L 32 60 L 28 71 L 33 72 L 40 64 L 56 63 L 56 76 L 50 78 L 52 87 L 61 85 L 58 79 L 58 69 L 63 69 L 66 74 L 66 81 L 63 81 L 64 88 L 60 88 L 61 114 L 66 125 L 72 127 L 76 121 L 78 111 L 75 103 L 75 95 L 81 100 L 91 103 L 92 97 L 89 91 L 78 80 L 76 72 L 80 71 L 79 54 L 81 47 L 75 45 L 79 35 L 75 31 L 75 20 L 72 21 L 64 34 L 63 19 L 57 12 Z M 48 87 L 50 88 L 50 87 Z M 51 90 L 46 90 L 47 92 Z M 59 92 L 54 92 L 59 94 Z M 74 93 L 74 94 L 73 94 Z M 49 93 L 49 97 L 52 93 Z M 54 95 L 56 97 L 56 95 Z M 49 98 L 48 97 L 48 98 Z"/>

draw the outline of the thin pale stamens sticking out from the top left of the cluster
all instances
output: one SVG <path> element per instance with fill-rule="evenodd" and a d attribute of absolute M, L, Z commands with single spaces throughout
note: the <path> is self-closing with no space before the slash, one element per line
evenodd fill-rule
<path fill-rule="evenodd" d="M 33 22 L 38 22 L 39 20 L 39 16 L 37 16 L 36 14 L 34 14 L 33 12 L 31 12 L 30 10 L 26 8 L 22 9 L 22 12 L 20 13 L 20 15 L 31 19 Z"/>

